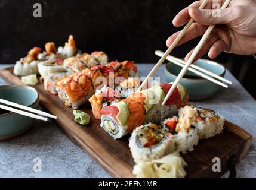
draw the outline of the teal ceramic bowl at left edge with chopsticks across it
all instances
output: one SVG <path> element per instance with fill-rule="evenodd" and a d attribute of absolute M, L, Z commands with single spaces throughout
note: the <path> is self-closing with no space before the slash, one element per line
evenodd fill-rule
<path fill-rule="evenodd" d="M 38 109 L 39 95 L 35 88 L 23 85 L 0 86 L 0 98 Z M 0 140 L 12 138 L 29 129 L 35 119 L 0 109 Z"/>

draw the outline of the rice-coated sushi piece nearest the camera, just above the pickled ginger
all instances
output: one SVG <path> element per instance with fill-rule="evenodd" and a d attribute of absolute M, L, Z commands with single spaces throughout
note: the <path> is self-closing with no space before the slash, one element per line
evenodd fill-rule
<path fill-rule="evenodd" d="M 129 148 L 136 163 L 160 159 L 175 151 L 174 136 L 161 126 L 142 125 L 132 132 Z"/>

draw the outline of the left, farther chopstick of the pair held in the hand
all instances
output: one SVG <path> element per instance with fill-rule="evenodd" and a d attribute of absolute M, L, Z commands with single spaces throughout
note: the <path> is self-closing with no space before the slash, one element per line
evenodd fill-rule
<path fill-rule="evenodd" d="M 209 0 L 204 0 L 198 9 L 205 8 L 206 5 L 208 4 L 208 2 L 209 2 Z M 184 29 L 181 30 L 180 34 L 178 34 L 178 36 L 176 37 L 174 42 L 172 42 L 171 46 L 169 46 L 169 48 L 166 50 L 166 52 L 164 53 L 162 58 L 159 59 L 159 61 L 156 63 L 156 65 L 153 67 L 153 69 L 149 72 L 149 75 L 147 75 L 147 77 L 145 78 L 143 83 L 140 85 L 140 87 L 138 87 L 137 91 L 140 91 L 144 87 L 144 85 L 147 83 L 147 80 L 149 80 L 149 77 L 152 77 L 155 74 L 155 72 L 158 70 L 159 66 L 162 65 L 162 63 L 165 61 L 166 57 L 171 53 L 172 49 L 174 49 L 174 47 L 177 46 L 178 42 L 180 42 L 181 38 L 184 36 L 187 29 L 189 29 L 189 27 L 191 26 L 191 24 L 193 22 L 194 22 L 194 20 L 192 18 L 190 18 L 189 22 L 186 24 Z"/>

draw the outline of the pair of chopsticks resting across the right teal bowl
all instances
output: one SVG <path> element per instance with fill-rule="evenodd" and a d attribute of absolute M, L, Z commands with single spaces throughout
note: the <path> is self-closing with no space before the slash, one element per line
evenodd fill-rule
<path fill-rule="evenodd" d="M 159 50 L 156 50 L 156 51 L 155 51 L 155 55 L 158 55 L 158 56 L 161 57 L 161 56 L 164 55 L 164 52 L 161 52 L 161 51 L 159 51 Z M 166 59 L 167 59 L 168 61 L 173 62 L 174 64 L 176 64 L 176 65 L 178 65 L 178 66 L 181 66 L 181 67 L 183 67 L 183 66 L 186 64 L 186 61 L 184 61 L 184 60 L 182 60 L 182 59 L 179 59 L 179 58 L 175 58 L 174 56 L 171 56 L 171 55 L 168 55 L 168 56 L 166 57 Z M 210 72 L 210 71 L 208 71 L 208 70 L 206 70 L 206 69 L 203 69 L 203 68 L 201 68 L 200 66 L 197 66 L 197 65 L 193 65 L 193 64 L 190 65 L 189 68 L 188 68 L 188 70 L 191 71 L 191 72 L 193 72 L 193 73 L 195 73 L 196 75 L 199 75 L 199 76 L 202 77 L 202 78 L 206 78 L 207 80 L 212 81 L 213 83 L 218 84 L 218 85 L 221 85 L 222 87 L 225 87 L 225 88 L 228 88 L 228 86 L 227 86 L 226 84 L 224 84 L 224 83 L 221 83 L 221 82 L 218 81 L 218 80 L 221 80 L 221 81 L 224 81 L 224 82 L 226 82 L 226 83 L 232 84 L 232 81 L 229 81 L 229 80 L 227 80 L 226 78 L 223 78 L 223 77 L 221 77 L 220 75 L 217 75 L 217 74 L 215 74 L 215 73 L 213 73 L 213 72 Z M 200 71 L 201 71 L 201 72 L 200 72 Z M 204 72 L 205 74 L 204 74 L 203 72 Z M 206 74 L 208 74 L 208 75 L 206 75 Z M 209 75 L 212 76 L 212 77 L 217 78 L 218 80 L 216 80 L 215 78 L 209 77 Z"/>

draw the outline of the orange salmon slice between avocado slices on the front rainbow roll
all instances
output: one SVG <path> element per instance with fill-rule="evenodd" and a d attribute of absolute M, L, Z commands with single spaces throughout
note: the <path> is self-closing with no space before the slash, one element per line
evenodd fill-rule
<path fill-rule="evenodd" d="M 131 132 L 137 126 L 140 126 L 144 122 L 144 108 L 141 103 L 132 99 L 124 99 L 122 100 L 127 103 L 129 109 L 129 118 L 125 125 L 127 125 L 127 131 Z"/>

